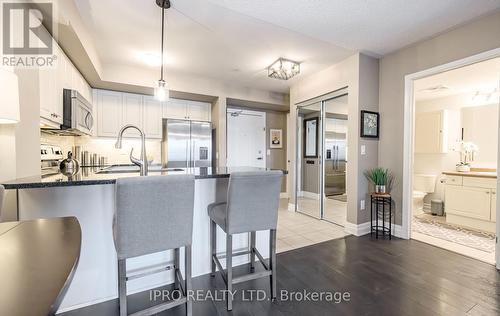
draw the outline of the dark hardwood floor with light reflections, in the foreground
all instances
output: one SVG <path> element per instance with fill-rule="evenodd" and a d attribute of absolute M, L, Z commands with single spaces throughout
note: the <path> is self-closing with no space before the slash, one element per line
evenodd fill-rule
<path fill-rule="evenodd" d="M 224 301 L 208 300 L 196 301 L 193 315 L 500 315 L 500 272 L 494 266 L 415 240 L 348 236 L 278 254 L 277 262 L 277 301 L 242 301 L 245 289 L 269 293 L 268 279 L 261 279 L 235 287 L 232 313 Z M 244 269 L 238 267 L 235 274 Z M 224 289 L 220 276 L 197 277 L 193 286 Z M 348 292 L 350 300 L 280 300 L 281 290 Z M 150 304 L 149 295 L 129 296 L 129 312 Z M 184 312 L 180 306 L 158 315 Z M 118 303 L 61 315 L 118 315 Z"/>

